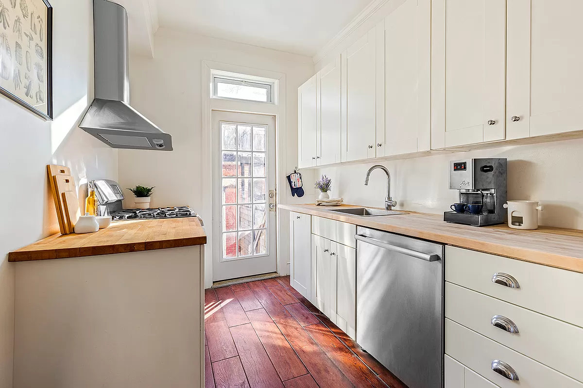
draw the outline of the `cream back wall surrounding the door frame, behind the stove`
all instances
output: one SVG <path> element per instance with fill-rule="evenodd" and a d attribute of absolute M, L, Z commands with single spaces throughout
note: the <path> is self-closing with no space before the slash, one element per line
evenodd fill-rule
<path fill-rule="evenodd" d="M 287 173 L 297 164 L 297 87 L 314 73 L 311 58 L 208 37 L 160 29 L 154 36 L 153 59 L 133 56 L 131 67 L 131 103 L 138 111 L 173 136 L 174 151 L 120 151 L 119 179 L 122 187 L 136 184 L 156 186 L 152 206 L 189 205 L 212 226 L 210 204 L 203 200 L 203 131 L 201 86 L 202 60 L 252 67 L 286 75 L 286 143 L 278 154 L 285 155 Z M 312 180 L 308 172 L 308 181 Z M 313 193 L 300 200 L 291 198 L 285 176 L 278 181 L 282 203 L 313 201 Z M 125 193 L 128 195 L 128 191 Z M 310 194 L 310 193 L 308 193 Z M 133 206 L 131 195 L 126 207 Z M 288 214 L 282 212 L 280 230 L 287 236 Z M 286 228 L 286 229 L 284 229 Z M 207 249 L 211 246 L 209 241 Z M 289 261 L 288 239 L 282 239 L 280 251 Z M 210 266 L 210 255 L 207 257 Z M 287 270 L 287 269 L 284 269 Z"/>

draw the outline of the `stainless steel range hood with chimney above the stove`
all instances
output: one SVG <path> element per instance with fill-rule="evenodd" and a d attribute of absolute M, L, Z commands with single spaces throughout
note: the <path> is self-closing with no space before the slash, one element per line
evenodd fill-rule
<path fill-rule="evenodd" d="M 172 151 L 172 137 L 129 105 L 128 13 L 93 0 L 95 100 L 79 127 L 113 148 Z"/>

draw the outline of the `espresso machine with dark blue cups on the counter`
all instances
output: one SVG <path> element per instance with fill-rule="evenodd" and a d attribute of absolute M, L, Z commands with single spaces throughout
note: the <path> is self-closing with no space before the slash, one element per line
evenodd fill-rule
<path fill-rule="evenodd" d="M 473 226 L 504 223 L 507 211 L 503 205 L 507 200 L 507 187 L 507 159 L 480 158 L 450 161 L 449 188 L 458 190 L 459 204 L 476 206 L 471 209 L 468 206 L 461 212 L 445 212 L 443 220 Z M 481 209 L 480 205 L 482 205 Z"/>

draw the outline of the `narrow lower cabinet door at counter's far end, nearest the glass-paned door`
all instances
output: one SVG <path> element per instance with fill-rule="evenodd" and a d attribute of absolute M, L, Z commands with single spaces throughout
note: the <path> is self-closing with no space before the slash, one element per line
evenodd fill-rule
<path fill-rule="evenodd" d="M 308 300 L 311 294 L 311 216 L 290 213 L 290 283 Z"/>

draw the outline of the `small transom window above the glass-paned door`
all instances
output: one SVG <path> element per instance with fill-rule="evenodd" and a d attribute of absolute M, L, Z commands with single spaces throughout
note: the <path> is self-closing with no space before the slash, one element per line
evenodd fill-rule
<path fill-rule="evenodd" d="M 213 97 L 273 103 L 273 84 L 213 76 Z"/>

